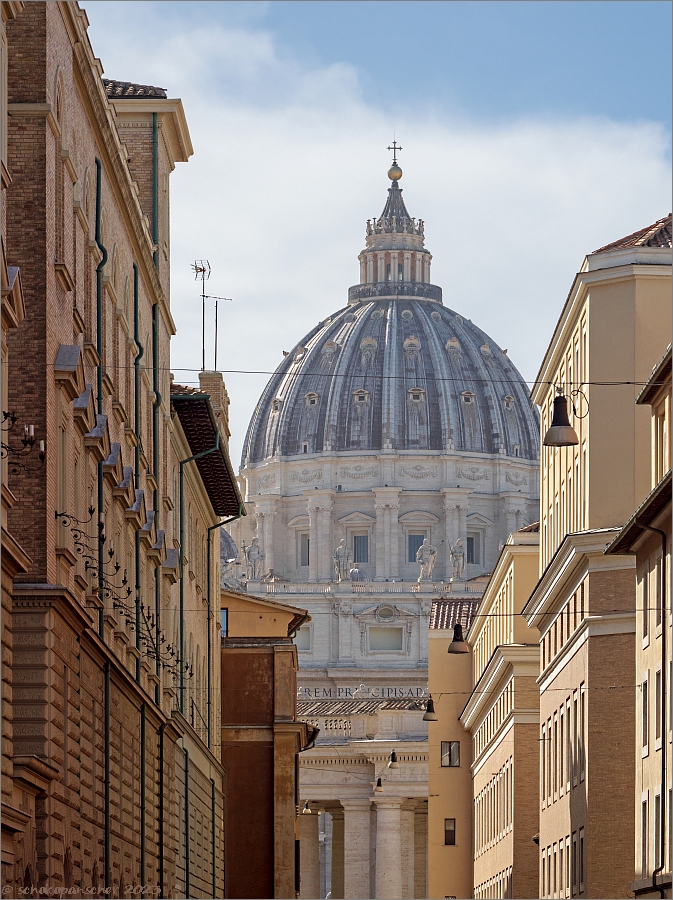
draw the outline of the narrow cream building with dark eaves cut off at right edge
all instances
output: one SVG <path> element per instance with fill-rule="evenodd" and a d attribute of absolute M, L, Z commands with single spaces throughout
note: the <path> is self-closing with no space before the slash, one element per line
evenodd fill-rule
<path fill-rule="evenodd" d="M 671 347 L 636 399 L 651 410 L 651 491 L 606 553 L 635 555 L 636 896 L 671 896 Z M 668 814 L 667 814 L 668 811 Z"/>

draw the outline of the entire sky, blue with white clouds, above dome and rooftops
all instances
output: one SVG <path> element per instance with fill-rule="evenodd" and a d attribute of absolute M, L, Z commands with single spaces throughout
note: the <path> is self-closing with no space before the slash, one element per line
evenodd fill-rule
<path fill-rule="evenodd" d="M 196 258 L 234 297 L 227 369 L 273 370 L 345 304 L 393 135 L 445 305 L 528 380 L 584 255 L 670 211 L 669 3 L 144 2 L 132 29 L 126 3 L 83 5 L 106 75 L 185 105 L 179 380 L 200 365 Z M 225 378 L 236 458 L 266 378 Z"/>

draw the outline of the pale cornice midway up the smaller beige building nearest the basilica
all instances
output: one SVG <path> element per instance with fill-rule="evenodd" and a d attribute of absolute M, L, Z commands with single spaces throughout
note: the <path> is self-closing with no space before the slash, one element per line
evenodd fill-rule
<path fill-rule="evenodd" d="M 510 678 L 537 678 L 539 673 L 539 644 L 501 644 L 496 647 L 459 716 L 463 728 L 471 732 L 479 728 Z"/>

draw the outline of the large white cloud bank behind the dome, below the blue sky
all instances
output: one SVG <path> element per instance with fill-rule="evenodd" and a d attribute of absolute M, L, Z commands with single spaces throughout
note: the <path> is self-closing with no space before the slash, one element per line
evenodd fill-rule
<path fill-rule="evenodd" d="M 194 259 L 210 259 L 210 293 L 234 298 L 220 305 L 225 369 L 274 369 L 283 349 L 345 305 L 365 220 L 385 202 L 393 131 L 407 206 L 426 221 L 432 280 L 527 379 L 584 255 L 669 211 L 668 136 L 656 123 L 491 126 L 428 108 L 393 120 L 362 99 L 351 66 L 302 66 L 257 26 L 210 25 L 202 6 L 193 25 L 171 4 L 135 4 L 131 32 L 115 6 L 87 7 L 106 72 L 181 96 L 195 148 L 172 180 L 179 380 L 195 381 L 179 369 L 201 359 Z M 267 379 L 225 377 L 236 458 Z"/>

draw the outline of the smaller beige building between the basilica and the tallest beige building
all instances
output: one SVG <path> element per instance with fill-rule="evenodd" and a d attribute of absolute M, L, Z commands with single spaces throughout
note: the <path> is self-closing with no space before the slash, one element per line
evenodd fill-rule
<path fill-rule="evenodd" d="M 472 693 L 474 897 L 537 890 L 538 631 L 521 616 L 538 573 L 538 526 L 511 534 L 467 636 Z"/>

